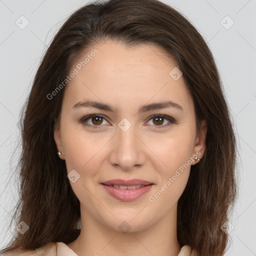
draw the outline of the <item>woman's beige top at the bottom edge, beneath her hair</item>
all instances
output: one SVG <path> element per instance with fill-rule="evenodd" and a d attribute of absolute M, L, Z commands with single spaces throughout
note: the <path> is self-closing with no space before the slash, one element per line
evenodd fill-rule
<path fill-rule="evenodd" d="M 16 249 L 6 254 L 6 256 L 78 256 L 71 248 L 63 242 L 49 242 L 46 245 L 35 250 Z M 177 256 L 198 256 L 195 250 L 184 245 Z"/>

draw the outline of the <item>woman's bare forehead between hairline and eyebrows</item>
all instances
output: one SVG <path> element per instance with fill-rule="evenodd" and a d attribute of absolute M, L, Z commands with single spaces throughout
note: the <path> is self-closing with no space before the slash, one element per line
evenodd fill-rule
<path fill-rule="evenodd" d="M 70 104 L 84 99 L 122 106 L 172 100 L 184 108 L 193 107 L 183 77 L 175 80 L 171 76 L 171 71 L 178 68 L 176 61 L 156 45 L 127 47 L 113 41 L 95 44 L 75 61 L 73 68 L 77 73 L 64 93 Z"/>

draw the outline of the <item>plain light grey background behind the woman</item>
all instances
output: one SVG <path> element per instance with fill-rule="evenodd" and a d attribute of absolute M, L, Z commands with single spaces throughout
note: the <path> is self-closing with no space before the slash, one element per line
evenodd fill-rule
<path fill-rule="evenodd" d="M 13 168 L 20 153 L 16 123 L 21 107 L 52 36 L 68 15 L 86 2 L 0 0 L 0 248 L 15 228 L 9 228 L 8 224 L 18 200 Z M 256 68 L 256 0 L 163 2 L 195 25 L 208 42 L 220 71 L 240 159 L 237 166 L 239 196 L 230 219 L 232 243 L 225 255 L 256 255 L 256 86 L 253 77 Z M 19 27 L 25 24 L 25 19 L 20 18 L 22 15 L 29 22 L 24 29 Z"/>

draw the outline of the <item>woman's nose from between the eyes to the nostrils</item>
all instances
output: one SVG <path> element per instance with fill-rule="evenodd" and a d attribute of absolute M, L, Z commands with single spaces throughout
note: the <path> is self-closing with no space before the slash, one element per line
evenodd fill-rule
<path fill-rule="evenodd" d="M 131 125 L 127 130 L 118 126 L 116 133 L 111 142 L 110 164 L 123 170 L 142 166 L 146 159 L 144 152 L 146 146 L 139 132 L 135 130 L 135 125 Z"/>

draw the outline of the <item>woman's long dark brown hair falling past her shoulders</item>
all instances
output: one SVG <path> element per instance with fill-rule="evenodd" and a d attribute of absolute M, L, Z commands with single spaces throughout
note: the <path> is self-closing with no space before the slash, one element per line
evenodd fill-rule
<path fill-rule="evenodd" d="M 63 92 L 47 95 L 66 79 L 73 64 L 96 43 L 125 46 L 153 44 L 173 57 L 192 97 L 196 127 L 207 123 L 205 151 L 191 166 L 178 199 L 177 239 L 200 255 L 223 255 L 228 234 L 221 225 L 234 207 L 236 141 L 221 79 L 213 56 L 196 28 L 174 8 L 158 0 L 89 2 L 62 24 L 43 55 L 20 116 L 20 200 L 12 218 L 29 229 L 16 231 L 2 253 L 35 249 L 48 242 L 69 243 L 80 233 L 79 200 L 73 193 L 65 161 L 56 154 L 54 124 Z"/>

